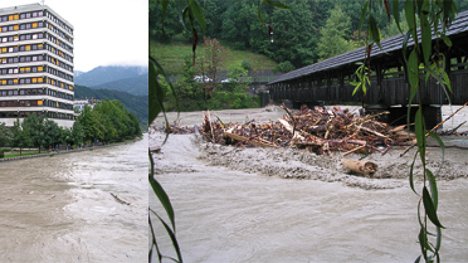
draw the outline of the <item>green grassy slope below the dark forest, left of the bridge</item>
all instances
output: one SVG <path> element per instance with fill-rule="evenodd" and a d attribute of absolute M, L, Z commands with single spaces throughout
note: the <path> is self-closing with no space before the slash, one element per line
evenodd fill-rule
<path fill-rule="evenodd" d="M 235 50 L 224 46 L 226 49 L 223 55 L 224 61 L 221 70 L 229 70 L 241 65 L 242 61 L 247 61 L 254 71 L 273 70 L 277 63 L 264 55 L 256 54 L 245 50 Z M 203 54 L 203 46 L 197 48 L 197 55 Z M 150 41 L 150 54 L 156 58 L 167 74 L 180 74 L 184 67 L 186 57 L 192 56 L 192 46 L 190 44 L 170 43 L 162 44 Z"/>

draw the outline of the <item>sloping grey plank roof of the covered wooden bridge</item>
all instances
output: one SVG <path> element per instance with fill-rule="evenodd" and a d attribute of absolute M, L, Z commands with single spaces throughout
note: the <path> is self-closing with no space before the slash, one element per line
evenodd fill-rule
<path fill-rule="evenodd" d="M 454 19 L 450 27 L 447 29 L 446 35 L 453 37 L 464 32 L 468 32 L 468 11 L 460 12 L 458 14 L 456 19 Z M 419 35 L 419 32 L 418 32 L 418 35 Z M 379 57 L 383 57 L 385 55 L 390 55 L 390 53 L 394 53 L 395 51 L 401 50 L 403 46 L 403 39 L 404 39 L 403 35 L 390 37 L 380 42 L 382 48 L 379 48 L 377 45 L 374 44 L 374 46 L 372 47 L 371 58 L 376 59 Z M 432 39 L 433 40 L 436 39 L 435 35 L 432 35 Z M 414 45 L 414 41 L 410 39 L 408 41 L 408 47 L 413 46 L 413 45 Z M 344 54 L 320 61 L 318 63 L 311 64 L 311 65 L 287 72 L 283 75 L 280 75 L 274 81 L 268 83 L 268 85 L 301 78 L 307 75 L 312 75 L 314 73 L 337 69 L 343 66 L 348 66 L 356 62 L 363 61 L 364 58 L 365 58 L 365 47 L 361 47 L 361 48 L 346 52 Z"/>

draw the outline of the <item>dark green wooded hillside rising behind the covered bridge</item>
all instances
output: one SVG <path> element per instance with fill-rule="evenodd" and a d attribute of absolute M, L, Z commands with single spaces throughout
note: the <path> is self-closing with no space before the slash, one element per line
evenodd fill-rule
<path fill-rule="evenodd" d="M 460 11 L 468 9 L 468 0 L 456 2 Z M 286 3 L 289 6 L 287 10 L 265 10 L 268 28 L 258 22 L 257 1 L 200 1 L 207 27 L 204 33 L 199 31 L 199 39 L 215 38 L 226 46 L 263 54 L 277 63 L 286 63 L 294 68 L 362 46 L 361 36 L 367 32 L 366 28 L 360 27 L 364 1 L 291 0 Z M 149 1 L 152 40 L 190 43 L 190 32 L 184 31 L 179 22 L 183 8 L 179 4 L 183 2 L 169 1 L 166 16 L 163 16 L 158 1 Z M 400 8 L 403 9 L 403 4 Z M 375 17 L 378 18 L 379 28 L 384 29 L 382 37 L 393 36 L 396 33 L 395 25 L 388 22 L 383 5 L 373 5 L 373 9 L 374 13 L 380 14 Z M 162 17 L 164 20 L 161 20 Z M 269 29 L 272 35 L 269 35 Z M 155 50 L 152 53 L 165 52 Z"/>

